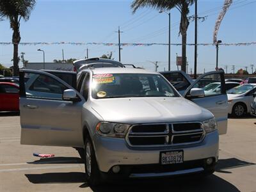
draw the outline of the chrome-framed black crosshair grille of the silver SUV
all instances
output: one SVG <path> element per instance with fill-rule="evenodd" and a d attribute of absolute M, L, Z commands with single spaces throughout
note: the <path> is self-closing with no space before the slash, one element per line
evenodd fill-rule
<path fill-rule="evenodd" d="M 131 147 L 163 147 L 199 143 L 204 136 L 201 122 L 138 124 L 129 129 L 126 141 Z"/>

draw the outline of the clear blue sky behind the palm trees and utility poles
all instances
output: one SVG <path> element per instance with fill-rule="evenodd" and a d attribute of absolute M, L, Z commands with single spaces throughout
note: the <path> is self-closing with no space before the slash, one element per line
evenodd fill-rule
<path fill-rule="evenodd" d="M 118 43 L 118 26 L 120 26 L 122 43 L 168 43 L 168 15 L 157 10 L 143 8 L 132 14 L 132 1 L 37 1 L 35 9 L 27 22 L 20 24 L 20 42 L 109 42 Z M 204 22 L 198 22 L 198 43 L 212 43 L 213 29 L 216 18 L 224 1 L 198 0 L 198 16 L 207 16 Z M 234 0 L 220 26 L 218 39 L 223 43 L 255 42 L 256 41 L 256 1 Z M 171 12 L 171 42 L 181 42 L 179 36 L 180 13 Z M 189 15 L 194 14 L 191 6 Z M 195 23 L 190 22 L 188 43 L 194 43 Z M 0 42 L 12 42 L 12 29 L 8 21 L 0 22 Z M 86 48 L 90 57 L 101 56 L 113 51 L 118 60 L 118 47 L 104 45 L 20 45 L 19 53 L 25 52 L 29 62 L 54 59 L 61 60 L 64 49 L 65 59 L 84 58 Z M 153 45 L 149 47 L 122 47 L 122 62 L 135 63 L 137 66 L 154 70 L 154 65 L 147 61 L 159 61 L 159 70 L 168 68 L 168 46 Z M 171 47 L 171 70 L 176 70 L 176 53 L 181 56 L 181 47 Z M 0 45 L 0 63 L 12 65 L 12 45 Z M 239 68 L 255 65 L 256 45 L 220 46 L 219 66 L 228 65 Z M 187 46 L 188 71 L 194 66 L 194 47 Z M 214 46 L 198 46 L 198 72 L 214 70 L 216 49 Z M 20 63 L 21 64 L 21 63 Z M 251 71 L 251 70 L 250 70 Z"/>

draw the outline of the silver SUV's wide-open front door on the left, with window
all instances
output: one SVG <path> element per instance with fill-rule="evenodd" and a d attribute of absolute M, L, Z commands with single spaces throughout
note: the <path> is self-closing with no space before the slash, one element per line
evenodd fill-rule
<path fill-rule="evenodd" d="M 83 147 L 84 102 L 60 78 L 40 70 L 20 70 L 20 143 Z"/>

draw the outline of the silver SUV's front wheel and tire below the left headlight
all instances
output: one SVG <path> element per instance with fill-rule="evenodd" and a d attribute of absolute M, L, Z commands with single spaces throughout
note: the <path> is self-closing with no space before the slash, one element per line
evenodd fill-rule
<path fill-rule="evenodd" d="M 86 180 L 90 186 L 97 186 L 102 183 L 92 140 L 89 136 L 86 136 L 84 140 L 84 168 Z"/>

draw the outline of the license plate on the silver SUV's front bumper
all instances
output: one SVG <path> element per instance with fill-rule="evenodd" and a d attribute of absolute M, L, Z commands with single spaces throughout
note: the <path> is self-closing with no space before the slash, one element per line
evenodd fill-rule
<path fill-rule="evenodd" d="M 172 150 L 160 153 L 161 164 L 183 163 L 183 150 Z"/>

